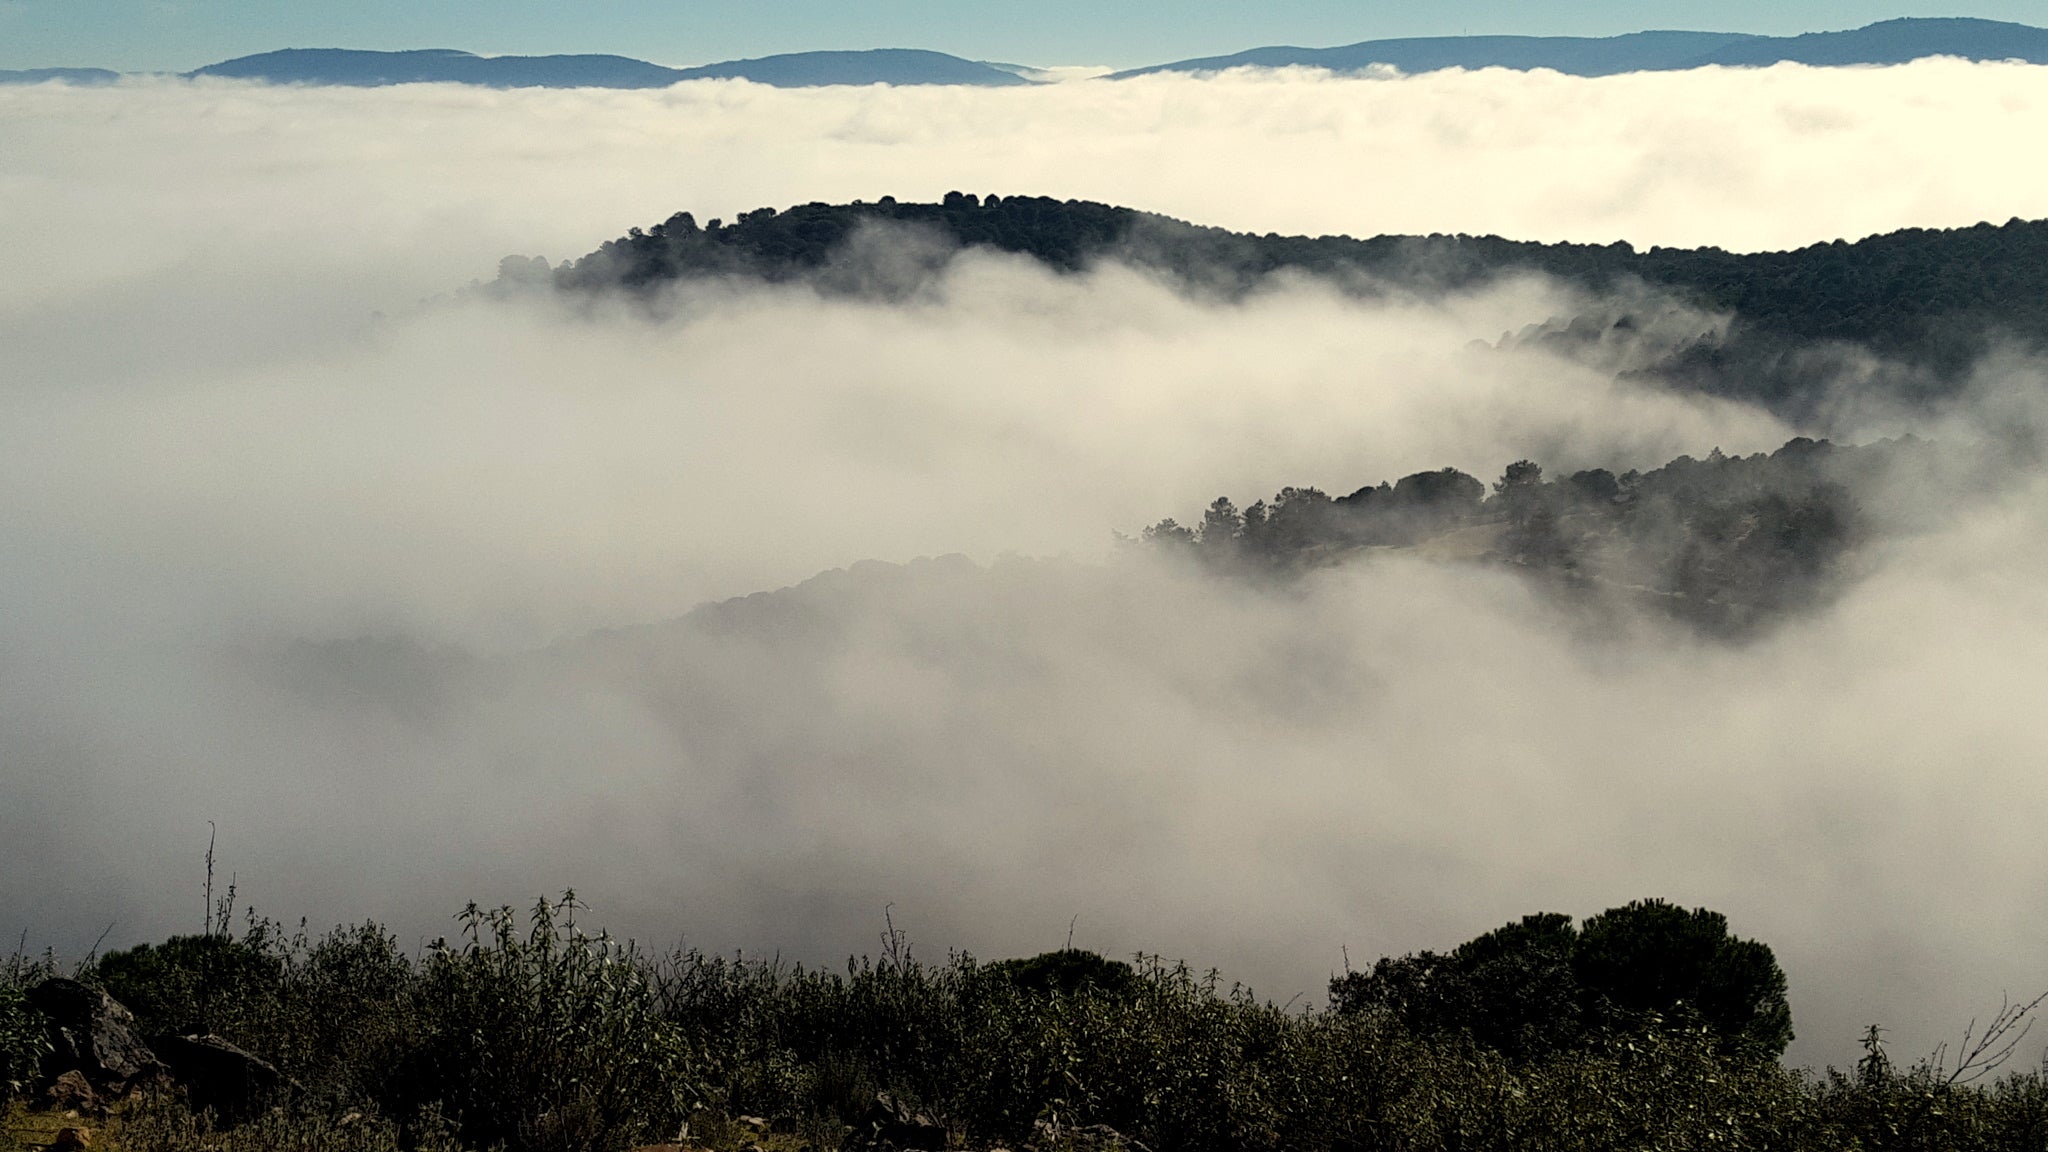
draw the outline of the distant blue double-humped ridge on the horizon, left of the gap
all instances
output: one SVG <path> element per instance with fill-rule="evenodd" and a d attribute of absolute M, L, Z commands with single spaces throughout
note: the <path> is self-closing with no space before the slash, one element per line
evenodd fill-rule
<path fill-rule="evenodd" d="M 473 55 L 455 49 L 356 51 L 295 47 L 209 64 L 186 76 L 270 84 L 479 84 L 485 88 L 666 88 L 682 80 L 754 80 L 776 88 L 825 84 L 1028 84 L 1022 76 L 920 49 L 799 51 L 702 68 L 664 68 L 625 55 Z"/>

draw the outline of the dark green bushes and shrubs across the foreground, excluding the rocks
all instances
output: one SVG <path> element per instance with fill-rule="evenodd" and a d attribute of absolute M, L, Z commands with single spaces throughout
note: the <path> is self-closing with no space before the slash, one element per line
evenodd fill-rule
<path fill-rule="evenodd" d="M 94 1146 L 2048 1148 L 2048 1080 L 1991 1074 L 2025 1009 L 1935 1060 L 1892 1064 L 1874 1031 L 1853 1070 L 1786 1070 L 1769 949 L 1661 902 L 1389 957 L 1319 1011 L 1159 959 L 924 961 L 899 935 L 838 972 L 655 957 L 573 912 L 471 908 L 420 955 L 373 924 L 250 918 L 88 963 L 139 1031 L 289 1076 L 240 1125 L 135 1093 Z M 49 974 L 16 957 L 0 980 L 0 1086 L 23 1097 L 47 1045 L 20 990 Z"/>

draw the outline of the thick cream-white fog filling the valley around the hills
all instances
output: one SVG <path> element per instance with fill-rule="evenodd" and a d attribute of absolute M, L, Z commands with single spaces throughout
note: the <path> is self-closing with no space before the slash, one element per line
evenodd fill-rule
<path fill-rule="evenodd" d="M 981 955 L 1079 916 L 1282 1000 L 1346 947 L 1657 894 L 1778 949 L 1796 1060 L 1870 1021 L 1929 1047 L 2048 986 L 2042 482 L 1868 549 L 1759 642 L 1589 635 L 1493 570 L 1380 553 L 1255 592 L 1112 533 L 1907 424 L 1475 344 L 1583 303 L 1536 281 L 1219 305 L 969 256 L 905 305 L 451 293 L 676 209 L 948 189 L 1763 248 L 2048 215 L 2013 146 L 2044 133 L 2048 70 L 1954 61 L 0 88 L 0 929 L 197 927 L 209 820 L 244 894 L 315 924 L 424 937 L 573 886 L 655 943 L 834 959 L 889 902 Z M 1929 428 L 2042 383 L 1987 363 Z M 971 560 L 915 562 L 942 553 Z"/>

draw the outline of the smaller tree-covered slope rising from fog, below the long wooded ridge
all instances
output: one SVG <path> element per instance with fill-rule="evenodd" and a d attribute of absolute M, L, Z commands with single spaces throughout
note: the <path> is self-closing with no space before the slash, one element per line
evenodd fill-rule
<path fill-rule="evenodd" d="M 1739 637 L 1837 594 L 1862 539 L 1937 515 L 1958 492 L 1935 480 L 1942 471 L 1939 449 L 1911 437 L 1862 447 L 1796 439 L 1769 455 L 1714 449 L 1651 471 L 1593 467 L 1554 480 L 1524 459 L 1491 492 L 1446 467 L 1335 498 L 1282 488 L 1243 510 L 1219 496 L 1200 521 L 1159 521 L 1143 541 L 1233 576 L 1419 547 Z M 1903 492 L 1921 504 L 1911 515 L 1898 508 Z M 1870 498 L 1884 515 L 1866 510 Z"/>

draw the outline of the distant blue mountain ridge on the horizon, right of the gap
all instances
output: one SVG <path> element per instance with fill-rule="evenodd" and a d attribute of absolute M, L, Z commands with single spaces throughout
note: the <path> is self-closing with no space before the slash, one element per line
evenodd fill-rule
<path fill-rule="evenodd" d="M 1747 33 L 1628 33 L 1620 37 L 1411 37 L 1341 47 L 1255 47 L 1133 68 L 1110 80 L 1157 72 L 1223 72 L 1227 68 L 1327 68 L 1362 72 L 1374 66 L 1399 72 L 1442 68 L 1548 68 L 1569 76 L 1622 72 L 1677 72 L 1686 68 L 1772 64 L 1907 64 L 1929 55 L 1964 59 L 2023 59 L 2048 64 L 2048 29 L 1964 16 L 1882 20 L 1841 33 L 1759 37 Z"/>

